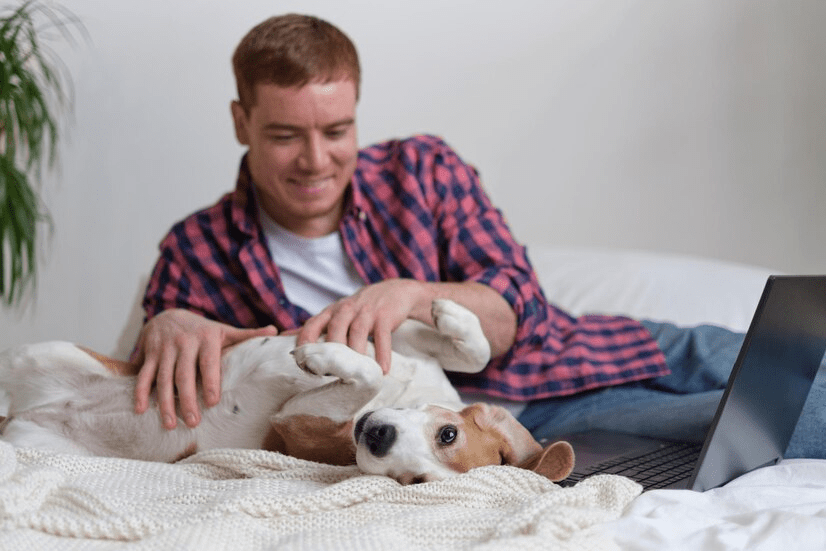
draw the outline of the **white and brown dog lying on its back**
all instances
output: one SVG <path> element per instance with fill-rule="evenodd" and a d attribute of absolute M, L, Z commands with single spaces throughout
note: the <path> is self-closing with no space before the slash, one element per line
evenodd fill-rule
<path fill-rule="evenodd" d="M 407 320 L 393 333 L 391 368 L 344 344 L 295 347 L 258 337 L 222 355 L 222 396 L 195 428 L 166 430 L 156 397 L 134 413 L 138 367 L 66 342 L 0 355 L 9 395 L 2 439 L 63 453 L 175 462 L 212 448 L 265 449 L 333 465 L 356 464 L 402 484 L 441 480 L 492 464 L 559 481 L 573 468 L 567 442 L 547 448 L 505 409 L 465 406 L 444 370 L 478 372 L 490 359 L 479 319 L 449 300 L 434 327 Z"/>

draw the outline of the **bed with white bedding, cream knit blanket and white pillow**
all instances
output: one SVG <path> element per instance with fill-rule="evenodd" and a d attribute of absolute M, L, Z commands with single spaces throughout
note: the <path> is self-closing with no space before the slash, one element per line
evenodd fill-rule
<path fill-rule="evenodd" d="M 642 251 L 529 247 L 551 300 L 744 330 L 770 270 Z M 561 488 L 493 466 L 400 486 L 258 450 L 176 464 L 0 442 L 0 549 L 822 549 L 826 461 L 705 493 L 598 476 Z"/>

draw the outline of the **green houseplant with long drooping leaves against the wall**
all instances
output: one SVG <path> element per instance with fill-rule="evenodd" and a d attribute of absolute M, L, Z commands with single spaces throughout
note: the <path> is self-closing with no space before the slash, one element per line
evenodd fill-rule
<path fill-rule="evenodd" d="M 19 303 L 37 272 L 37 235 L 49 226 L 38 192 L 53 168 L 71 81 L 44 41 L 82 31 L 65 9 L 26 0 L 0 10 L 0 302 Z"/>

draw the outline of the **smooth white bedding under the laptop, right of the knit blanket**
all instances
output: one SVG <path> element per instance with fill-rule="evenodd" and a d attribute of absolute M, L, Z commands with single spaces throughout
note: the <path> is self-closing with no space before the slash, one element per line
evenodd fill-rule
<path fill-rule="evenodd" d="M 646 492 L 601 531 L 629 551 L 822 551 L 826 461 L 783 461 L 704 493 Z"/>

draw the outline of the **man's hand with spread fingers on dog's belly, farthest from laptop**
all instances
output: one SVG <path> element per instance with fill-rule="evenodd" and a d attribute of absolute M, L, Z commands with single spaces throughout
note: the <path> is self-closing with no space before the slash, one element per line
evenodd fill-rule
<path fill-rule="evenodd" d="M 149 407 L 149 393 L 155 382 L 163 426 L 177 425 L 175 389 L 181 414 L 188 427 L 201 422 L 196 387 L 200 370 L 204 403 L 212 407 L 221 399 L 221 351 L 224 347 L 257 336 L 276 335 L 273 326 L 238 329 L 208 320 L 188 310 L 166 310 L 150 319 L 138 340 L 138 373 L 135 385 L 135 412 Z"/>

